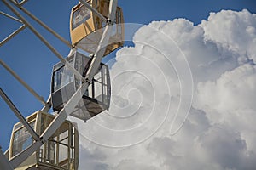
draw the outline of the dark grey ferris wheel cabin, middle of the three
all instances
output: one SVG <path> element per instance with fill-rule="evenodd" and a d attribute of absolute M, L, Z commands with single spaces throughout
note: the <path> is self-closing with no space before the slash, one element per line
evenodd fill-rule
<path fill-rule="evenodd" d="M 81 75 L 90 65 L 89 57 L 75 51 L 67 60 Z M 61 62 L 53 68 L 51 83 L 51 99 L 54 111 L 61 111 L 63 106 L 78 90 L 82 82 Z M 79 105 L 71 116 L 86 120 L 108 110 L 110 104 L 111 86 L 108 65 L 101 63 L 96 75 L 93 77 Z"/>

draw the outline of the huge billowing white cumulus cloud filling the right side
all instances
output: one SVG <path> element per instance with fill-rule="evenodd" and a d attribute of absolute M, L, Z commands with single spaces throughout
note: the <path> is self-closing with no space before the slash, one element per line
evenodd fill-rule
<path fill-rule="evenodd" d="M 79 122 L 80 169 L 255 169 L 255 30 L 246 9 L 140 28 L 110 110 Z"/>

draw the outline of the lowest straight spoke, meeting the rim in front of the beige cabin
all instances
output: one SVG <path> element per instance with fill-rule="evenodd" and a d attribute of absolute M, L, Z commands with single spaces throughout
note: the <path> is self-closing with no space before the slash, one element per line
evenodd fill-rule
<path fill-rule="evenodd" d="M 26 127 L 26 130 L 32 135 L 32 138 L 35 140 L 40 140 L 38 133 L 34 131 L 34 129 L 30 126 L 28 122 L 26 122 L 26 119 L 21 115 L 20 111 L 15 107 L 13 102 L 9 99 L 9 97 L 3 92 L 3 89 L 0 88 L 0 95 L 5 101 L 7 105 L 9 105 L 9 108 L 14 111 L 15 116 L 17 116 L 20 120 L 20 122 Z"/>

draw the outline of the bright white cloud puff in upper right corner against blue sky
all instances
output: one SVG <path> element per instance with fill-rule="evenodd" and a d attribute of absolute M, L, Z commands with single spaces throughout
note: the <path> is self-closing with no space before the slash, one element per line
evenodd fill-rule
<path fill-rule="evenodd" d="M 249 59 L 256 60 L 256 14 L 246 9 L 240 13 L 221 11 L 211 13 L 208 21 L 203 20 L 206 39 L 219 42 L 225 48 Z"/>

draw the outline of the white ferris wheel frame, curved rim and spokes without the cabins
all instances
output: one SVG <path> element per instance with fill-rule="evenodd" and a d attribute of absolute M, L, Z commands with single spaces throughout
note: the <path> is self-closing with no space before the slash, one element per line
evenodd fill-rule
<path fill-rule="evenodd" d="M 9 17 L 12 20 L 16 20 L 22 24 L 20 28 L 18 28 L 16 31 L 11 33 L 9 37 L 6 37 L 3 39 L 2 42 L 0 42 L 0 47 L 5 43 L 8 42 L 12 37 L 15 37 L 15 35 L 19 34 L 20 31 L 24 30 L 26 27 L 29 28 L 36 37 L 38 37 L 44 44 L 55 54 L 57 58 L 61 60 L 61 62 L 64 65 L 67 65 L 67 67 L 73 71 L 73 74 L 79 77 L 81 82 L 81 86 L 79 89 L 73 94 L 72 98 L 67 101 L 67 104 L 64 105 L 64 107 L 61 109 L 61 111 L 55 116 L 55 119 L 53 122 L 49 124 L 49 127 L 47 127 L 44 130 L 44 133 L 41 135 L 38 135 L 33 128 L 29 125 L 28 122 L 26 122 L 26 119 L 20 111 L 15 107 L 13 102 L 8 98 L 8 96 L 3 92 L 3 89 L 0 88 L 0 95 L 3 98 L 3 100 L 9 105 L 10 109 L 14 111 L 15 116 L 17 116 L 20 120 L 20 122 L 23 124 L 24 127 L 26 127 L 27 131 L 32 135 L 33 138 L 33 144 L 30 145 L 26 150 L 23 150 L 20 152 L 20 154 L 16 155 L 15 157 L 8 160 L 1 150 L 0 147 L 0 165 L 2 165 L 7 170 L 13 170 L 14 168 L 18 167 L 23 161 L 26 161 L 26 159 L 32 155 L 32 153 L 40 148 L 42 144 L 44 144 L 50 136 L 55 133 L 55 130 L 58 129 L 61 124 L 67 119 L 67 116 L 71 114 L 73 111 L 75 105 L 79 103 L 79 100 L 82 99 L 83 94 L 85 93 L 85 90 L 88 88 L 89 83 L 92 81 L 94 75 L 96 74 L 96 71 L 102 61 L 102 57 L 105 53 L 105 50 L 108 45 L 109 38 L 111 36 L 112 28 L 113 28 L 113 20 L 115 20 L 115 13 L 117 8 L 117 0 L 110 0 L 109 4 L 109 13 L 108 13 L 108 19 L 106 19 L 102 14 L 100 14 L 95 8 L 92 8 L 89 3 L 86 3 L 85 0 L 79 0 L 80 3 L 82 3 L 85 7 L 89 8 L 94 14 L 96 14 L 102 21 L 106 22 L 106 27 L 103 31 L 102 38 L 99 42 L 98 47 L 96 48 L 96 53 L 93 54 L 93 59 L 90 63 L 89 70 L 87 71 L 87 74 L 85 77 L 83 77 L 79 71 L 73 68 L 73 65 L 70 65 L 70 63 L 67 61 L 67 59 L 64 59 L 61 54 L 59 54 L 54 47 L 52 47 L 49 42 L 13 7 L 15 5 L 16 7 L 20 8 L 25 14 L 27 14 L 29 17 L 32 18 L 32 20 L 35 20 L 38 22 L 39 25 L 43 26 L 47 31 L 52 33 L 55 37 L 59 38 L 61 42 L 64 42 L 69 48 L 71 48 L 70 54 L 73 53 L 73 50 L 77 50 L 76 47 L 73 47 L 70 42 L 65 40 L 63 37 L 61 37 L 59 34 L 57 34 L 55 31 L 49 28 L 44 22 L 39 20 L 36 16 L 31 14 L 29 11 L 26 10 L 26 8 L 22 7 L 23 4 L 27 2 L 27 0 L 23 0 L 19 2 L 18 0 L 2 0 L 2 2 L 15 14 L 15 17 L 5 14 L 2 11 L 0 11 L 0 14 L 3 14 L 6 17 Z M 11 5 L 12 3 L 13 5 Z M 3 60 L 0 59 L 0 64 L 7 70 L 9 73 L 15 77 L 32 95 L 35 96 L 36 99 L 38 99 L 44 106 L 41 111 L 48 112 L 51 104 L 50 104 L 50 95 L 49 98 L 45 101 L 43 97 L 41 97 L 39 94 L 37 94 L 26 82 L 24 82 L 16 73 L 15 71 L 12 71 L 11 68 L 9 68 L 8 65 L 6 65 Z M 7 150 L 8 151 L 8 150 Z"/>

